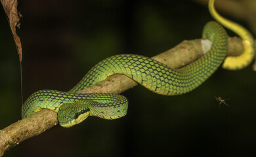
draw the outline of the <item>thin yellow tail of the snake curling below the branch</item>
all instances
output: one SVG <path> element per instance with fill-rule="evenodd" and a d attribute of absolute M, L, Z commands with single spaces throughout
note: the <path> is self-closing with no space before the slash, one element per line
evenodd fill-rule
<path fill-rule="evenodd" d="M 222 24 L 224 27 L 234 31 L 234 33 L 238 34 L 242 38 L 242 44 L 244 46 L 244 52 L 240 56 L 228 56 L 222 65 L 224 69 L 228 70 L 238 70 L 243 69 L 249 65 L 255 56 L 255 43 L 253 39 L 253 35 L 245 29 L 245 27 L 240 24 L 236 24 L 223 16 L 221 16 L 214 7 L 215 0 L 209 0 L 209 12 L 211 16 Z"/>

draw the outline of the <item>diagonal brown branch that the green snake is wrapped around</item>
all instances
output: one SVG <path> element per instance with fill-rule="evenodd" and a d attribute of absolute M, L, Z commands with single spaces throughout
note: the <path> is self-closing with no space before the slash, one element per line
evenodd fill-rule
<path fill-rule="evenodd" d="M 205 40 L 183 41 L 174 48 L 158 54 L 153 58 L 168 65 L 172 69 L 177 69 L 203 55 L 201 41 Z M 230 38 L 228 54 L 239 55 L 242 51 L 241 39 L 236 37 Z M 98 92 L 119 94 L 136 85 L 137 83 L 135 81 L 124 75 L 113 75 L 86 90 L 80 91 L 80 93 Z M 57 114 L 53 111 L 43 109 L 28 118 L 18 120 L 18 122 L 0 130 L 0 156 L 3 156 L 7 149 L 18 145 L 30 137 L 43 133 L 43 131 L 49 130 L 53 126 L 56 126 L 56 124 L 58 124 Z"/>

